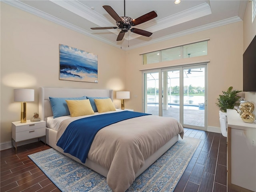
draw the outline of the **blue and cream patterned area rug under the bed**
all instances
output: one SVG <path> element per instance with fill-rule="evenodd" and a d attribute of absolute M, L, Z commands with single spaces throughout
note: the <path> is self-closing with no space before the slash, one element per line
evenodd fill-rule
<path fill-rule="evenodd" d="M 126 192 L 172 192 L 199 143 L 199 139 L 179 138 Z M 62 192 L 112 191 L 104 176 L 52 148 L 28 156 Z"/>

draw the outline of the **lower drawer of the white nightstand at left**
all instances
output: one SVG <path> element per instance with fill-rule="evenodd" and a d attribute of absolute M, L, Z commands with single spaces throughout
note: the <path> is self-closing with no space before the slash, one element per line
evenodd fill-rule
<path fill-rule="evenodd" d="M 13 138 L 16 142 L 28 140 L 32 138 L 38 138 L 41 136 L 45 136 L 46 134 L 46 128 L 36 128 L 36 129 L 30 129 L 23 132 L 19 132 L 19 134 L 16 134 L 16 138 Z"/>

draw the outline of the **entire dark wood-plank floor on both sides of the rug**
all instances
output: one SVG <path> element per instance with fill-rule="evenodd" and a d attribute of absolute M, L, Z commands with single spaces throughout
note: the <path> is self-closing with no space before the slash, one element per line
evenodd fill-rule
<path fill-rule="evenodd" d="M 226 137 L 221 134 L 185 128 L 185 136 L 201 140 L 193 158 L 174 192 L 226 192 Z M 0 152 L 1 192 L 60 192 L 46 175 L 28 158 L 49 149 L 42 142 Z"/>

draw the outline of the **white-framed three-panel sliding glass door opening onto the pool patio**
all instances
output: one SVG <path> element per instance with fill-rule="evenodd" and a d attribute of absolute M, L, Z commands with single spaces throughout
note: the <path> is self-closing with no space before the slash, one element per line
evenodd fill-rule
<path fill-rule="evenodd" d="M 143 72 L 143 110 L 206 130 L 206 64 Z"/>

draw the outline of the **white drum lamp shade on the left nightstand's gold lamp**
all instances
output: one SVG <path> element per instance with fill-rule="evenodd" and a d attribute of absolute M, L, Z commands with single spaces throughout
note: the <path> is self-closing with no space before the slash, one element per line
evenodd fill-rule
<path fill-rule="evenodd" d="M 34 101 L 34 89 L 14 89 L 14 101 L 27 102 Z"/>

